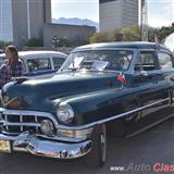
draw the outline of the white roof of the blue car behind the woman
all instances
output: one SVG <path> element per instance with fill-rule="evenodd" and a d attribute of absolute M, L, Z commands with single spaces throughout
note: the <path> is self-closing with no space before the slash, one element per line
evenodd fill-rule
<path fill-rule="evenodd" d="M 37 55 L 37 54 L 57 54 L 63 58 L 67 57 L 67 54 L 59 51 L 18 51 L 18 57 L 23 57 L 23 58 L 25 55 Z M 0 57 L 4 57 L 4 55 L 5 55 L 4 53 L 0 54 Z"/>

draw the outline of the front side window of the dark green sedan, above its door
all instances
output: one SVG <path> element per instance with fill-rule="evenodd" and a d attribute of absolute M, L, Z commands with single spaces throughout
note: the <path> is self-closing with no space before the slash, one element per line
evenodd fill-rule
<path fill-rule="evenodd" d="M 135 71 L 152 71 L 157 70 L 154 52 L 151 51 L 141 51 L 137 58 Z"/>

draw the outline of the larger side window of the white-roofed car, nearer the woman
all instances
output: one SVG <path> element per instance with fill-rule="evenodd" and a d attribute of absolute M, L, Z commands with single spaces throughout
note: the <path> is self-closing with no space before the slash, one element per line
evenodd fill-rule
<path fill-rule="evenodd" d="M 49 58 L 28 59 L 27 65 L 29 72 L 51 70 L 51 62 Z"/>

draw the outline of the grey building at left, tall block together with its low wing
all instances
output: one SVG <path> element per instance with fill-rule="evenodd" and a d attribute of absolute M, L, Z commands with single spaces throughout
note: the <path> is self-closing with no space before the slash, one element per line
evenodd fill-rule
<path fill-rule="evenodd" d="M 52 38 L 88 39 L 92 26 L 52 24 L 51 0 L 0 0 L 0 40 L 22 48 L 32 38 L 51 47 Z"/>

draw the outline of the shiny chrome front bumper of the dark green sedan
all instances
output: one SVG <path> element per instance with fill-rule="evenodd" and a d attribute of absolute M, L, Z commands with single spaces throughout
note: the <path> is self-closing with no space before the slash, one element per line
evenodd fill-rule
<path fill-rule="evenodd" d="M 12 151 L 27 151 L 36 156 L 75 159 L 87 154 L 92 147 L 91 140 L 82 142 L 60 142 L 42 139 L 29 132 L 24 132 L 17 137 L 0 134 L 0 139 L 11 140 Z"/>

